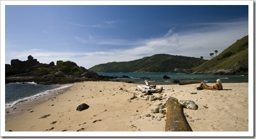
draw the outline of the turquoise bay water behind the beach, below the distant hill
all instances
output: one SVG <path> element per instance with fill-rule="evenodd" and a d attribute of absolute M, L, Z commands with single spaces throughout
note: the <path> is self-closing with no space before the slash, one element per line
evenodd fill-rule
<path fill-rule="evenodd" d="M 248 76 L 242 75 L 194 75 L 182 73 L 97 73 L 104 76 L 123 76 L 129 78 L 117 78 L 113 81 L 133 81 L 134 83 L 144 83 L 148 80 L 155 85 L 175 84 L 174 80 L 179 81 L 204 81 L 207 83 L 216 83 L 217 79 L 221 79 L 223 83 L 248 83 Z M 163 76 L 169 76 L 170 79 L 163 79 Z"/>

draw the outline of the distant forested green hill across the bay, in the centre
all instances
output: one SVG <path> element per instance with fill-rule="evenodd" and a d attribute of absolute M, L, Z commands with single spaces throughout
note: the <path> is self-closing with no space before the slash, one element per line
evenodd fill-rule
<path fill-rule="evenodd" d="M 153 56 L 126 62 L 97 64 L 89 70 L 94 72 L 174 72 L 194 68 L 204 62 L 200 58 L 155 54 Z"/>

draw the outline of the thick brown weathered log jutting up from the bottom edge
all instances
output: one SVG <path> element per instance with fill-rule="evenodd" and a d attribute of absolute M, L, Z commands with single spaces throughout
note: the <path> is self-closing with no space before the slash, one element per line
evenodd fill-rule
<path fill-rule="evenodd" d="M 192 131 L 184 116 L 181 103 L 176 98 L 170 97 L 166 105 L 165 131 Z"/>

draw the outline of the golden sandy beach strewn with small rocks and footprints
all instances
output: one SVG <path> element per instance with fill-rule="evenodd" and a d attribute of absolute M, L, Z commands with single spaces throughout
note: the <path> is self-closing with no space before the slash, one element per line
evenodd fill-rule
<path fill-rule="evenodd" d="M 148 97 L 164 99 L 150 101 L 136 84 L 75 83 L 56 98 L 6 120 L 5 131 L 164 131 L 166 117 L 156 120 L 154 116 L 163 114 L 151 109 L 164 105 L 166 96 L 196 102 L 198 110 L 184 108 L 193 131 L 248 131 L 248 83 L 223 83 L 226 90 L 221 91 L 196 90 L 198 84 L 157 86 L 163 86 L 164 91 Z M 134 95 L 137 98 L 131 100 Z M 77 111 L 82 103 L 89 108 Z M 43 115 L 50 116 L 40 118 Z"/>

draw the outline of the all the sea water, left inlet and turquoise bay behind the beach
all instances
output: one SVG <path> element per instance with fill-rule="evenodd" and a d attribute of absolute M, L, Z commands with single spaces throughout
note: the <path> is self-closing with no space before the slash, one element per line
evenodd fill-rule
<path fill-rule="evenodd" d="M 174 85 L 177 81 L 204 81 L 206 83 L 216 83 L 221 79 L 222 83 L 248 83 L 248 76 L 240 75 L 193 75 L 182 73 L 98 73 L 104 76 L 128 76 L 128 78 L 115 78 L 112 81 L 132 82 L 136 84 L 145 84 L 145 80 L 151 85 Z M 169 79 L 163 79 L 163 76 L 169 76 Z M 8 83 L 5 85 L 5 107 L 12 108 L 19 103 L 35 100 L 43 95 L 69 88 L 74 84 L 66 85 L 39 85 L 35 82 Z"/>

